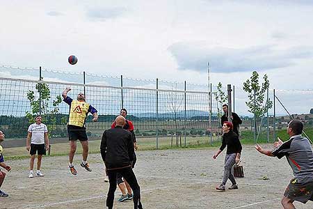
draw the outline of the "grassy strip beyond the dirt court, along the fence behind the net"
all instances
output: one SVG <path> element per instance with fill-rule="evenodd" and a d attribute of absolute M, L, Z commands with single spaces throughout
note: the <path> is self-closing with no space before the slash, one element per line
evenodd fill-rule
<path fill-rule="evenodd" d="M 313 130 L 312 127 L 305 128 L 306 134 L 313 138 Z M 289 136 L 287 135 L 286 130 L 277 130 L 277 137 L 280 137 L 282 141 L 287 141 Z M 157 149 L 157 139 L 156 138 L 138 138 L 138 147 L 139 150 L 156 150 Z M 180 141 L 182 141 L 182 147 L 180 146 Z M 254 134 L 250 131 L 241 132 L 240 136 L 241 144 L 255 144 Z M 270 132 L 269 142 L 272 143 L 273 140 L 273 132 Z M 89 153 L 99 153 L 100 149 L 100 140 L 89 141 Z M 176 145 L 178 142 L 178 146 Z M 186 137 L 186 146 L 184 136 L 179 138 L 176 142 L 176 137 L 159 137 L 158 139 L 158 149 L 194 149 L 194 148 L 211 148 L 218 147 L 221 144 L 221 137 L 214 137 L 211 143 L 211 139 L 207 136 L 201 137 Z M 257 139 L 257 143 L 264 144 L 267 143 L 267 133 L 266 130 L 263 130 L 262 134 L 259 134 L 259 139 Z M 171 145 L 172 144 L 172 145 Z M 68 143 L 59 143 L 59 144 L 51 144 L 51 153 L 50 156 L 61 156 L 68 155 L 70 147 Z M 77 154 L 82 153 L 81 144 L 77 142 Z M 29 158 L 29 153 L 26 150 L 26 147 L 17 147 L 17 148 L 4 148 L 4 157 L 6 160 L 22 160 Z"/>

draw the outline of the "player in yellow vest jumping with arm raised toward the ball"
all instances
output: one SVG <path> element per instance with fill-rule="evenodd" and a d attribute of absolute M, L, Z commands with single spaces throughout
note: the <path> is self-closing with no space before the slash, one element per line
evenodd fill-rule
<path fill-rule="evenodd" d="M 69 167 L 73 175 L 77 175 L 77 170 L 74 168 L 73 159 L 77 148 L 77 139 L 81 141 L 81 146 L 83 147 L 83 160 L 81 161 L 81 167 L 85 168 L 87 171 L 91 171 L 89 164 L 87 162 L 88 157 L 88 138 L 86 134 L 86 118 L 88 113 L 93 114 L 93 122 L 98 120 L 97 109 L 92 107 L 86 102 L 85 95 L 79 93 L 77 95 L 77 100 L 72 100 L 67 93 L 71 88 L 67 87 L 63 91 L 64 102 L 70 105 L 70 116 L 67 123 L 67 133 L 70 140 L 70 153 L 69 153 Z"/>

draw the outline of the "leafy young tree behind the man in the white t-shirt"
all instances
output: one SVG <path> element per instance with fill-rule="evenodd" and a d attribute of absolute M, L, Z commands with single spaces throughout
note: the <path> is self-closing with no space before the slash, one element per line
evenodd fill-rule
<path fill-rule="evenodd" d="M 42 123 L 46 123 L 49 134 L 56 130 L 56 114 L 60 111 L 58 104 L 62 102 L 61 95 L 56 96 L 56 100 L 52 101 L 52 109 L 49 107 L 49 101 L 51 99 L 51 93 L 49 85 L 43 82 L 36 84 L 35 89 L 39 94 L 39 98 L 36 98 L 35 92 L 29 90 L 27 93 L 27 99 L 31 104 L 31 111 L 26 111 L 26 118 L 29 123 L 35 123 L 35 116 L 42 115 Z M 66 118 L 61 118 L 62 123 L 66 123 Z"/>

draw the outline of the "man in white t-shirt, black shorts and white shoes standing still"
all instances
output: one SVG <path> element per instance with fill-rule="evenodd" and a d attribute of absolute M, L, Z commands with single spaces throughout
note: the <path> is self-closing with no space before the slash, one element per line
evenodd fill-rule
<path fill-rule="evenodd" d="M 35 176 L 44 176 L 41 173 L 41 160 L 42 155 L 46 155 L 46 150 L 49 150 L 49 137 L 47 125 L 41 123 L 42 117 L 36 116 L 35 122 L 29 125 L 26 139 L 26 150 L 31 155 L 29 162 L 29 178 L 33 178 L 33 163 L 35 161 L 35 155 L 37 153 L 37 172 Z"/>

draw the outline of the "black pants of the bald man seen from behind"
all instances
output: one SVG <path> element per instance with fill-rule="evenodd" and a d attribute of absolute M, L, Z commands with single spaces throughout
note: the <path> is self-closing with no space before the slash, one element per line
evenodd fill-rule
<path fill-rule="evenodd" d="M 127 183 L 134 192 L 134 209 L 141 209 L 143 207 L 141 206 L 141 188 L 138 185 L 133 169 L 131 169 L 131 167 L 126 167 L 122 169 L 107 170 L 107 173 L 109 176 L 110 187 L 106 198 L 106 206 L 109 209 L 113 208 L 114 192 L 116 190 L 116 173 L 120 173 L 123 178 L 127 180 Z"/>

